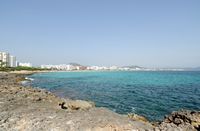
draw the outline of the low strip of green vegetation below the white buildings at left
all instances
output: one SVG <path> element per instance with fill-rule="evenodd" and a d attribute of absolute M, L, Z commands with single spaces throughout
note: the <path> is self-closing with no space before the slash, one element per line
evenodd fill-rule
<path fill-rule="evenodd" d="M 42 70 L 48 70 L 48 69 L 42 69 L 40 67 L 24 67 L 24 66 L 18 66 L 18 67 L 4 67 L 4 66 L 0 66 L 0 71 L 22 71 L 22 70 L 26 70 L 26 71 L 42 71 Z"/>

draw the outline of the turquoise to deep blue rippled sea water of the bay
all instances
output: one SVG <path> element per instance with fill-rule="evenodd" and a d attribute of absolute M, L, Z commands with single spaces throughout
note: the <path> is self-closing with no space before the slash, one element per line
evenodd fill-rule
<path fill-rule="evenodd" d="M 200 72 L 52 72 L 30 77 L 32 86 L 58 96 L 94 101 L 149 120 L 182 108 L 200 110 Z"/>

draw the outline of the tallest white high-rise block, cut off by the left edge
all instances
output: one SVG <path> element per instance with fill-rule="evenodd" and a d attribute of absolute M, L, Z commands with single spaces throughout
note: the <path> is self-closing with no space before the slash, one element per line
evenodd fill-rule
<path fill-rule="evenodd" d="M 2 65 L 2 63 L 4 63 L 2 66 L 4 67 L 8 67 L 10 66 L 10 61 L 9 58 L 10 54 L 7 52 L 0 52 L 0 64 Z"/>

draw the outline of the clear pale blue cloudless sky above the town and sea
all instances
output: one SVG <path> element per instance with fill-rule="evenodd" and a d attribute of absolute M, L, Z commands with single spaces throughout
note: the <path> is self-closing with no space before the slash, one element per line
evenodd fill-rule
<path fill-rule="evenodd" d="M 0 51 L 34 65 L 200 67 L 200 1 L 0 0 Z"/>

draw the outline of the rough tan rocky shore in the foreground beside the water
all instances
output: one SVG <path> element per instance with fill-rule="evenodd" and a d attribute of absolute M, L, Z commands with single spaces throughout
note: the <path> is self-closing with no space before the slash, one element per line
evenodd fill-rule
<path fill-rule="evenodd" d="M 0 73 L 0 131 L 199 131 L 200 112 L 179 111 L 151 124 L 136 114 L 120 115 L 93 102 L 61 99 L 23 87 L 22 74 Z"/>

